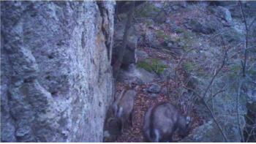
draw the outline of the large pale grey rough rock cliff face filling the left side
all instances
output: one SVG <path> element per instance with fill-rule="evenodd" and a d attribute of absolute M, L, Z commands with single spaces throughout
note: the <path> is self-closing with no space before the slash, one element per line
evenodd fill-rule
<path fill-rule="evenodd" d="M 115 1 L 1 1 L 1 142 L 101 142 Z"/>

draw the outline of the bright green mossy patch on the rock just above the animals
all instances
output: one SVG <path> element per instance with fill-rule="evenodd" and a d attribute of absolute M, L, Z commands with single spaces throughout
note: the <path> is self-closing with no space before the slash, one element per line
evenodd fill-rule
<path fill-rule="evenodd" d="M 146 58 L 137 62 L 138 67 L 143 67 L 148 72 L 154 71 L 157 74 L 161 74 L 167 65 L 162 64 L 161 61 L 154 58 Z"/>

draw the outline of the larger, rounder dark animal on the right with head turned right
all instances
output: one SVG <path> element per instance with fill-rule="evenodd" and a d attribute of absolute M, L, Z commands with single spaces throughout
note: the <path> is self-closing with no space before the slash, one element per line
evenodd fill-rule
<path fill-rule="evenodd" d="M 143 121 L 143 134 L 147 142 L 172 142 L 173 133 L 184 138 L 188 135 L 190 118 L 176 110 L 170 102 L 148 108 Z"/>

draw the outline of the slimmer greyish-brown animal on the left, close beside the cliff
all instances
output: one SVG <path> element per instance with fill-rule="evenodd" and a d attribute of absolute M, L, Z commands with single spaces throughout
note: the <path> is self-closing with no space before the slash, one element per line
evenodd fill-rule
<path fill-rule="evenodd" d="M 114 118 L 118 120 L 118 127 L 121 133 L 123 133 L 124 124 L 128 121 L 128 119 L 132 125 L 132 111 L 135 95 L 135 88 L 129 86 L 121 91 L 121 94 L 113 103 Z"/>

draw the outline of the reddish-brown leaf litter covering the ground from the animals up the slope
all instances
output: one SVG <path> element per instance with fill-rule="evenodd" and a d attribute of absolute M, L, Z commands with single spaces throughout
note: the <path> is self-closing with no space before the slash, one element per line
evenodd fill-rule
<path fill-rule="evenodd" d="M 181 26 L 181 23 L 184 23 L 184 20 L 186 20 L 186 18 L 197 17 L 198 10 L 200 10 L 200 7 L 198 7 L 198 9 L 195 9 L 192 12 L 191 11 L 184 11 L 184 12 L 173 11 L 172 15 L 169 15 L 169 17 L 170 19 L 175 20 L 176 23 L 178 23 L 178 26 Z M 146 20 L 141 20 L 140 24 L 136 23 L 135 29 L 136 31 L 138 31 L 138 33 L 140 33 L 140 35 L 146 34 L 145 31 L 151 31 L 151 32 L 165 31 L 165 34 L 167 35 L 174 34 L 170 32 L 173 29 L 170 25 L 166 24 L 165 26 L 159 26 L 159 29 L 156 30 L 151 26 L 148 28 L 146 26 Z M 201 40 L 207 41 L 208 39 L 207 37 L 201 37 Z M 165 42 L 165 37 L 157 37 L 157 41 L 160 43 Z M 116 140 L 117 143 L 145 142 L 142 128 L 143 128 L 144 114 L 146 113 L 146 110 L 148 109 L 148 107 L 157 105 L 160 102 L 171 102 L 178 108 L 178 110 L 181 111 L 181 113 L 184 113 L 185 111 L 184 107 L 181 108 L 180 98 L 182 96 L 181 94 L 182 92 L 179 91 L 178 88 L 182 88 L 182 86 L 186 85 L 184 84 L 185 83 L 184 71 L 181 66 L 184 64 L 184 61 L 189 61 L 189 56 L 182 57 L 182 56 L 173 54 L 171 52 L 169 53 L 167 50 L 162 50 L 161 48 L 148 48 L 146 46 L 141 46 L 141 45 L 143 45 L 143 43 L 138 44 L 138 50 L 142 50 L 148 53 L 149 58 L 155 58 L 157 60 L 165 61 L 166 64 L 172 64 L 173 66 L 176 66 L 176 67 L 172 66 L 172 68 L 176 70 L 176 76 L 171 77 L 169 80 L 165 80 L 165 81 L 153 80 L 151 83 L 139 85 L 140 88 L 138 89 L 138 91 L 136 91 L 137 95 L 135 96 L 134 112 L 132 113 L 132 120 L 134 125 L 130 126 L 129 124 L 127 124 L 126 126 L 124 126 L 124 133 L 118 137 L 118 139 Z M 196 48 L 198 46 L 198 42 L 195 42 L 195 44 L 191 46 L 192 48 Z M 145 89 L 148 90 L 148 87 L 151 86 L 152 83 L 159 84 L 161 88 L 167 88 L 167 94 L 160 92 L 157 94 L 158 95 L 157 97 L 149 96 L 150 93 L 145 92 Z M 126 84 L 124 83 L 116 82 L 116 94 L 120 93 L 125 86 Z M 192 105 L 189 107 L 189 116 L 190 116 L 192 129 L 190 130 L 189 134 L 192 133 L 193 129 L 203 125 L 203 116 L 197 113 L 197 107 L 195 103 L 190 102 L 190 104 L 191 103 Z M 187 105 L 186 102 L 183 105 Z M 173 142 L 179 142 L 179 141 L 181 141 L 181 137 L 178 137 L 178 134 L 175 133 L 173 135 Z"/>

